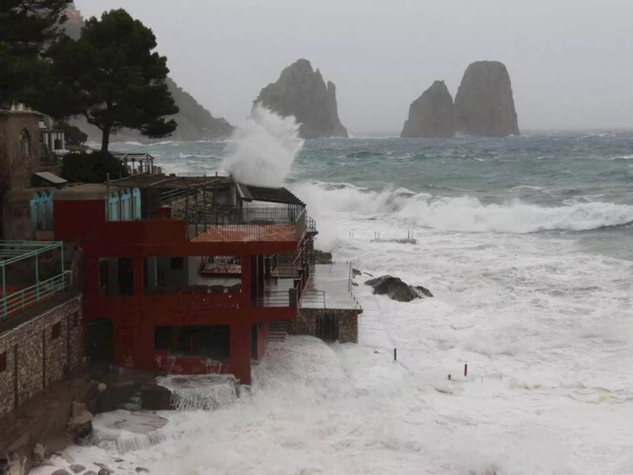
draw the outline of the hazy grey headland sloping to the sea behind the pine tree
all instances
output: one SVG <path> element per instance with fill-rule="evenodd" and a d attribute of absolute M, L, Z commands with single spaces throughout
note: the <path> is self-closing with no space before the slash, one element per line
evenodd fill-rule
<path fill-rule="evenodd" d="M 234 127 L 223 118 L 215 118 L 203 106 L 197 103 L 190 94 L 183 91 L 172 79 L 167 79 L 167 87 L 172 93 L 173 99 L 180 111 L 173 116 L 178 123 L 178 128 L 170 137 L 160 140 L 215 140 L 229 137 Z M 77 117 L 70 121 L 72 125 L 79 127 L 88 134 L 92 141 L 101 141 L 101 131 L 88 124 L 84 117 Z M 112 136 L 112 141 L 134 139 L 151 142 L 151 139 L 141 136 L 137 130 L 123 129 Z"/>

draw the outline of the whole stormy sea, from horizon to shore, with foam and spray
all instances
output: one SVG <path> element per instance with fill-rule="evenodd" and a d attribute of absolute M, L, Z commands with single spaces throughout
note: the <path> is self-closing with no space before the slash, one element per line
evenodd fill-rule
<path fill-rule="evenodd" d="M 99 416 L 34 473 L 633 473 L 633 132 L 302 141 L 260 111 L 228 141 L 111 149 L 285 184 L 317 248 L 434 297 L 357 279 L 358 345 L 271 343 L 249 396 L 149 433 L 155 414 Z"/>

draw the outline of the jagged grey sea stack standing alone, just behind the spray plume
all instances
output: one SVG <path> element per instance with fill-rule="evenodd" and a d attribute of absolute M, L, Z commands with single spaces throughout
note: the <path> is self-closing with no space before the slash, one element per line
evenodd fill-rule
<path fill-rule="evenodd" d="M 327 85 L 310 61 L 298 60 L 285 68 L 277 82 L 264 87 L 254 104 L 261 104 L 284 117 L 294 115 L 304 139 L 348 137 L 339 120 L 336 86 Z"/>

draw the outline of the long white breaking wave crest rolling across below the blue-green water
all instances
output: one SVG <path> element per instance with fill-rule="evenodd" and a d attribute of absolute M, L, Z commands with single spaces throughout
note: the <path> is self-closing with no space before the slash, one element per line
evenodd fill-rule
<path fill-rule="evenodd" d="M 503 205 L 484 205 L 470 196 L 437 197 L 404 188 L 368 191 L 354 186 L 332 187 L 303 183 L 294 191 L 311 208 L 356 213 L 356 217 L 380 217 L 405 221 L 410 227 L 439 231 L 511 232 L 585 231 L 633 221 L 633 206 L 602 201 L 570 202 L 545 208 L 513 200 Z"/>

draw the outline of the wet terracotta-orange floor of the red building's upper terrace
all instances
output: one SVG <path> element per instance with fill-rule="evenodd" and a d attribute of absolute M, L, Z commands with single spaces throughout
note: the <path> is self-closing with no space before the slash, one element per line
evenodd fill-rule
<path fill-rule="evenodd" d="M 294 242 L 294 224 L 228 224 L 211 226 L 192 239 L 194 243 L 215 242 Z"/>

